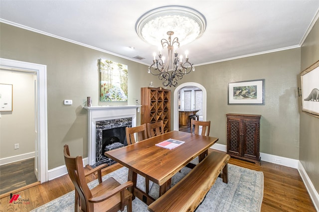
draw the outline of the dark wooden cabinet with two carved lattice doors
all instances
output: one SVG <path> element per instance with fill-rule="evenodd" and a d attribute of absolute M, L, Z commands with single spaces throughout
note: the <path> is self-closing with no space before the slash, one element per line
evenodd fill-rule
<path fill-rule="evenodd" d="M 251 162 L 260 162 L 260 117 L 253 114 L 228 113 L 227 153 Z"/>

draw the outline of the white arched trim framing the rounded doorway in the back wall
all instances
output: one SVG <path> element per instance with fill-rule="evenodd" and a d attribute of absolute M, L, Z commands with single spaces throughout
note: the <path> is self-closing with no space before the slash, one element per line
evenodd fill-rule
<path fill-rule="evenodd" d="M 205 121 L 206 120 L 206 108 L 207 108 L 207 93 L 206 93 L 206 89 L 198 84 L 198 83 L 193 83 L 193 82 L 188 82 L 188 83 L 183 83 L 179 86 L 176 87 L 175 91 L 174 91 L 174 103 L 173 103 L 173 110 L 174 110 L 174 115 L 173 115 L 173 130 L 179 130 L 179 116 L 178 116 L 178 94 L 179 91 L 184 88 L 184 87 L 189 87 L 189 86 L 194 86 L 197 87 L 199 89 L 202 90 L 202 107 L 203 107 L 203 111 L 202 111 L 202 119 Z"/>

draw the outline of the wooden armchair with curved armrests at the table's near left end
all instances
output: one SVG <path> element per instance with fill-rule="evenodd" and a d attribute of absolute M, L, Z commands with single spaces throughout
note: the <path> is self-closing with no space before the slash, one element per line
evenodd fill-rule
<path fill-rule="evenodd" d="M 64 161 L 71 181 L 75 187 L 75 208 L 74 211 L 83 212 L 132 212 L 132 193 L 127 188 L 133 186 L 132 181 L 120 184 L 113 177 L 102 182 L 101 169 L 107 166 L 98 166 L 88 173 L 98 172 L 99 184 L 89 189 L 85 181 L 82 156 L 71 157 L 68 145 L 64 145 Z M 86 173 L 86 174 L 88 174 Z"/>

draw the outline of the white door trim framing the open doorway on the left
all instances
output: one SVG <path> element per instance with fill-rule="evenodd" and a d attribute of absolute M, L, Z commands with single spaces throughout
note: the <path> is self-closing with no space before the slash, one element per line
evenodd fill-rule
<path fill-rule="evenodd" d="M 37 75 L 38 119 L 37 119 L 37 145 L 39 150 L 38 180 L 43 183 L 48 181 L 47 157 L 47 90 L 46 90 L 46 65 L 28 63 L 0 58 L 0 68 L 4 70 L 32 72 Z"/>

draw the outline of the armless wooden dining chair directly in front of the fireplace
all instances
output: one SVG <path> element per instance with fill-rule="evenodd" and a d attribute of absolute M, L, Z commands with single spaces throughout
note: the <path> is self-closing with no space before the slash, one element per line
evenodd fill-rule
<path fill-rule="evenodd" d="M 139 142 L 148 138 L 146 123 L 140 126 L 126 127 L 125 132 L 126 132 L 126 140 L 128 142 L 128 145 L 136 143 L 135 134 L 137 136 L 137 141 Z M 150 181 L 147 178 L 145 178 L 145 191 L 147 194 L 149 194 Z"/>

